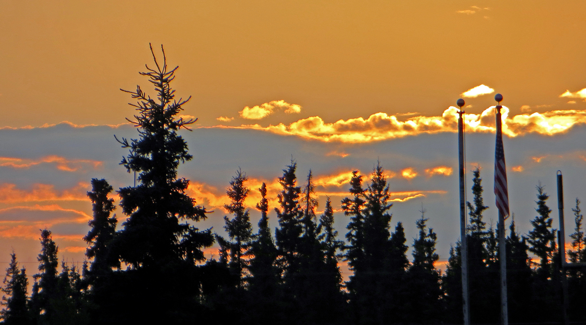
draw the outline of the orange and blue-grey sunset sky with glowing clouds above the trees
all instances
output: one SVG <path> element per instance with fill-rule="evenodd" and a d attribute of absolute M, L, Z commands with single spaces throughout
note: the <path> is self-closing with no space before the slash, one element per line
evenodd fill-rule
<path fill-rule="evenodd" d="M 180 66 L 178 97 L 193 96 L 183 114 L 199 120 L 182 135 L 195 159 L 179 171 L 215 211 L 200 228 L 222 233 L 224 190 L 239 167 L 253 190 L 267 182 L 274 206 L 292 155 L 299 179 L 314 171 L 322 210 L 326 195 L 339 208 L 350 170 L 367 175 L 379 159 L 393 227 L 403 222 L 410 243 L 423 204 L 445 261 L 459 232 L 459 97 L 467 168 L 481 166 L 485 218 L 496 225 L 496 93 L 519 231 L 530 229 L 538 182 L 556 210 L 558 169 L 567 210 L 586 199 L 584 1 L 0 0 L 0 28 L 0 262 L 15 249 L 30 274 L 39 228 L 66 259 L 83 260 L 92 177 L 132 183 L 113 135 L 137 137 L 124 119 L 134 111 L 118 89 L 152 94 L 138 75 L 152 62 L 149 42 Z M 251 192 L 251 207 L 259 197 Z M 343 237 L 347 217 L 336 218 Z"/>

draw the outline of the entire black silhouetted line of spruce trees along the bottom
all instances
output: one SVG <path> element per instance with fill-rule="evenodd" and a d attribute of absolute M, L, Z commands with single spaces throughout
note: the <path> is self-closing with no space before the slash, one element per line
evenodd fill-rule
<path fill-rule="evenodd" d="M 154 54 L 153 54 L 154 56 Z M 425 209 L 416 221 L 418 234 L 407 240 L 403 224 L 392 223 L 389 185 L 377 163 L 370 175 L 353 172 L 348 196 L 341 201 L 350 218 L 346 240 L 333 227 L 332 202 L 318 215 L 311 171 L 297 178 L 291 160 L 278 178 L 281 190 L 274 209 L 278 225 L 269 227 L 267 187 L 247 187 L 237 170 L 224 205 L 226 237 L 200 230 L 208 211 L 178 178 L 180 163 L 192 159 L 177 134 L 194 120 L 177 118 L 189 100 L 176 100 L 170 87 L 175 69 L 155 59 L 156 69 L 141 73 L 155 85 L 157 97 L 137 87 L 132 121 L 138 139 L 120 139 L 130 150 L 121 164 L 137 173 L 135 186 L 117 191 L 125 215 L 120 230 L 113 187 L 92 179 L 91 230 L 83 268 L 57 258 L 49 230 L 40 234 L 38 273 L 28 292 L 26 269 L 13 253 L 6 269 L 1 317 L 5 324 L 455 324 L 462 322 L 460 245 L 451 248 L 447 269 L 435 266 L 437 236 L 428 228 Z M 480 170 L 473 171 L 473 201 L 468 203 L 468 251 L 472 323 L 499 323 L 499 258 L 496 225 L 486 224 Z M 367 178 L 365 178 L 367 177 Z M 255 205 L 261 218 L 250 221 L 244 204 L 260 191 Z M 544 187 L 537 186 L 533 229 L 519 234 L 510 218 L 506 241 L 509 316 L 512 323 L 561 321 L 561 270 L 556 230 Z M 568 256 L 586 262 L 580 201 Z M 255 230 L 256 229 L 256 230 Z M 218 258 L 203 249 L 219 245 Z M 532 261 L 530 255 L 538 259 Z M 340 265 L 351 275 L 345 282 Z M 586 321 L 586 274 L 568 272 L 571 321 Z"/>

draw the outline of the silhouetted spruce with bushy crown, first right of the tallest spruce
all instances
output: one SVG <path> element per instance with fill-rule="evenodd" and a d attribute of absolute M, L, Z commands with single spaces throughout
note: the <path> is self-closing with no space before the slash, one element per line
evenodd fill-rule
<path fill-rule="evenodd" d="M 250 189 L 244 185 L 244 182 L 248 180 L 246 174 L 242 170 L 236 171 L 236 176 L 230 180 L 230 186 L 226 190 L 227 196 L 230 198 L 230 204 L 224 204 L 224 208 L 229 213 L 234 214 L 234 218 L 231 220 L 224 216 L 224 229 L 230 237 L 228 243 L 230 248 L 230 269 L 234 275 L 240 279 L 239 287 L 243 281 L 243 271 L 247 266 L 247 259 L 243 258 L 247 254 L 247 250 L 250 247 L 250 242 L 253 238 L 253 230 L 250 224 L 250 215 L 248 208 L 244 206 L 244 200 L 248 196 Z M 245 256 L 246 257 L 246 256 Z"/>

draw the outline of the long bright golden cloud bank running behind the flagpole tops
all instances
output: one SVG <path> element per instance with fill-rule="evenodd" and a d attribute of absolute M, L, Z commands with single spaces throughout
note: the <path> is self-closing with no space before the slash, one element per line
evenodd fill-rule
<path fill-rule="evenodd" d="M 514 137 L 531 133 L 555 135 L 568 131 L 574 125 L 586 124 L 586 110 L 558 110 L 543 113 L 519 114 L 509 117 L 509 108 L 503 106 L 503 134 Z M 466 132 L 495 132 L 494 106 L 481 114 L 465 114 Z M 394 115 L 379 112 L 364 119 L 340 119 L 326 123 L 320 117 L 299 119 L 289 125 L 258 124 L 241 126 L 212 126 L 216 128 L 257 129 L 280 135 L 295 135 L 305 139 L 324 142 L 364 143 L 386 139 L 402 138 L 408 135 L 457 132 L 458 109 L 449 107 L 441 116 L 408 118 L 398 121 Z"/>

